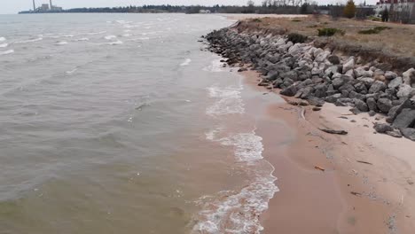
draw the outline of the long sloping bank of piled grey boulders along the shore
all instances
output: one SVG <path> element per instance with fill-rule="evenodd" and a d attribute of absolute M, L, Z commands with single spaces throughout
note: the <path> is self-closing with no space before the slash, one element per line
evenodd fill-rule
<path fill-rule="evenodd" d="M 239 24 L 206 35 L 209 51 L 230 66 L 250 66 L 258 83 L 318 107 L 325 102 L 349 106 L 352 113 L 380 113 L 386 122 L 375 130 L 415 141 L 415 69 L 400 73 L 374 59 L 342 56 L 312 41 L 294 43 L 286 35 L 240 30 Z M 244 69 L 239 69 L 243 71 Z M 301 102 L 302 103 L 302 102 Z"/>

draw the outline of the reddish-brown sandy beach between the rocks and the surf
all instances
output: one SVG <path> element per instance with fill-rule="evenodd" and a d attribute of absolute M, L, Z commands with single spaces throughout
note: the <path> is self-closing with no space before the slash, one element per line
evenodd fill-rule
<path fill-rule="evenodd" d="M 243 75 L 255 90 L 269 92 L 256 86 L 254 72 Z M 373 134 L 376 116 L 330 104 L 311 109 L 276 102 L 258 118 L 263 155 L 280 190 L 262 215 L 263 233 L 413 233 L 415 143 Z"/>

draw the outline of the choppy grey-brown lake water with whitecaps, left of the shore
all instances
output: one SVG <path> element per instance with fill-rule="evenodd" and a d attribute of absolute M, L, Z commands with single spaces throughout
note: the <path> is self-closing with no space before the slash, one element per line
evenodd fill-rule
<path fill-rule="evenodd" d="M 277 191 L 214 15 L 0 16 L 0 233 L 259 233 Z"/>

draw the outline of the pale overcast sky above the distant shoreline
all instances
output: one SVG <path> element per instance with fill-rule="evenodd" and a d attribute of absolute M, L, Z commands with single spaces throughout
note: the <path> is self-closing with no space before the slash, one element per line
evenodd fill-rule
<path fill-rule="evenodd" d="M 49 0 L 35 0 L 37 5 L 47 4 Z M 333 4 L 346 0 L 317 0 L 321 4 Z M 13 14 L 23 10 L 33 8 L 32 0 L 0 0 L 0 14 Z M 254 0 L 256 4 L 261 4 L 262 0 Z M 356 4 L 360 0 L 355 0 Z M 367 0 L 366 3 L 374 4 L 376 0 Z M 64 9 L 75 7 L 105 7 L 105 6 L 127 6 L 143 4 L 247 4 L 247 0 L 52 0 L 52 4 L 62 6 Z"/>

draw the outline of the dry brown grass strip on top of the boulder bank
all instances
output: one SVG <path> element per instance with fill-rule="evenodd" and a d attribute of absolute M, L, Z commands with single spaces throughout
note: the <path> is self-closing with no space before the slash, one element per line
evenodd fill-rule
<path fill-rule="evenodd" d="M 252 24 L 253 22 L 248 23 Z M 358 33 L 361 30 L 380 26 L 391 28 L 373 35 L 362 35 Z M 332 20 L 325 16 L 319 18 L 309 16 L 307 19 L 262 18 L 261 22 L 256 22 L 254 27 L 259 30 L 269 29 L 270 31 L 299 33 L 308 36 L 317 36 L 318 28 L 339 28 L 345 32 L 345 35 L 334 35 L 328 40 L 336 43 L 364 46 L 386 54 L 394 54 L 395 56 L 415 56 L 415 26 L 413 25 L 399 25 L 365 20 Z"/>

